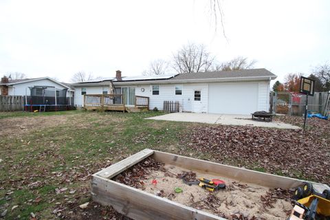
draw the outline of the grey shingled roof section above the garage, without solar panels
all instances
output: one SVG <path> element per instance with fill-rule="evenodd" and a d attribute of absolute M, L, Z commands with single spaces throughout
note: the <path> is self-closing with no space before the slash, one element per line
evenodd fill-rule
<path fill-rule="evenodd" d="M 267 69 L 241 69 L 233 71 L 220 71 L 220 72 L 199 72 L 191 74 L 178 74 L 177 76 L 170 78 L 169 80 L 201 80 L 201 79 L 220 79 L 220 78 L 258 78 L 258 77 L 270 77 L 276 78 L 275 74 L 272 74 Z"/>

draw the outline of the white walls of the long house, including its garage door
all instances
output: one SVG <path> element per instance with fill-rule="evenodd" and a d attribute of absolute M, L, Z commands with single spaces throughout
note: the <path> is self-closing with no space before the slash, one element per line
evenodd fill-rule
<path fill-rule="evenodd" d="M 250 114 L 254 111 L 268 111 L 269 108 L 269 81 L 249 83 L 183 83 L 182 95 L 175 95 L 175 85 L 177 84 L 160 84 L 159 95 L 153 95 L 153 85 L 150 84 L 115 85 L 115 87 L 135 87 L 135 96 L 150 98 L 149 109 L 157 107 L 157 109 L 162 110 L 164 101 L 179 101 L 181 111 L 203 113 Z M 76 87 L 76 91 L 80 91 L 80 88 Z M 195 90 L 201 91 L 200 101 L 195 101 Z M 86 91 L 87 94 L 102 94 L 103 87 L 86 87 Z M 223 98 L 218 99 L 217 97 Z M 80 92 L 76 93 L 74 104 L 78 106 L 83 105 L 83 96 L 81 96 Z M 225 111 L 217 106 L 225 106 Z"/>

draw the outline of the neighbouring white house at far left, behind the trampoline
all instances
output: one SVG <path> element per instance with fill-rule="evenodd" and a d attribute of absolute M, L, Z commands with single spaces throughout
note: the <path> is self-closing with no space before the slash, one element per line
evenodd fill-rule
<path fill-rule="evenodd" d="M 45 90 L 43 88 L 51 88 L 50 90 L 56 91 L 57 93 L 63 89 L 67 89 L 67 97 L 74 96 L 74 89 L 72 89 L 72 87 L 64 83 L 59 83 L 50 77 L 23 78 L 19 80 L 9 80 L 7 77 L 3 77 L 0 83 L 0 95 L 30 96 L 32 88 L 36 88 L 36 92 L 39 90 L 42 92 Z"/>

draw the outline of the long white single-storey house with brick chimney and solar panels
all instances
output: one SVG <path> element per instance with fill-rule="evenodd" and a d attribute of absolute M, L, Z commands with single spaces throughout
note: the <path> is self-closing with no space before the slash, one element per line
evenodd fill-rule
<path fill-rule="evenodd" d="M 269 111 L 270 80 L 276 75 L 267 69 L 204 72 L 161 76 L 121 76 L 76 83 L 74 104 L 83 107 L 84 94 L 123 94 L 126 106 L 135 96 L 149 97 L 149 109 L 163 109 L 164 101 L 179 101 L 180 110 L 197 113 L 250 114 Z"/>

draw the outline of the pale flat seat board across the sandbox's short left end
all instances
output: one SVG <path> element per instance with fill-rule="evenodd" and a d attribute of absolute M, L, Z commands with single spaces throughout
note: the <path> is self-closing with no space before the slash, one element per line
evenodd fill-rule
<path fill-rule="evenodd" d="M 103 170 L 100 170 L 100 172 L 96 173 L 96 175 L 110 179 L 152 154 L 153 154 L 153 150 L 146 148 L 143 151 L 135 153 L 135 155 L 131 155 L 131 157 L 127 157 L 126 159 L 123 159 L 122 161 L 116 164 L 113 164 Z"/>

